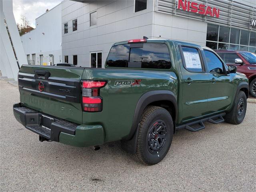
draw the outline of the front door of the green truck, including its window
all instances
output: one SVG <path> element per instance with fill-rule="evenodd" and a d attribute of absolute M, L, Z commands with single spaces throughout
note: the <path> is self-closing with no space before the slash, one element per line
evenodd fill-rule
<path fill-rule="evenodd" d="M 225 110 L 230 106 L 234 84 L 231 82 L 227 67 L 211 50 L 204 50 L 204 60 L 210 78 L 208 112 L 214 113 Z"/>

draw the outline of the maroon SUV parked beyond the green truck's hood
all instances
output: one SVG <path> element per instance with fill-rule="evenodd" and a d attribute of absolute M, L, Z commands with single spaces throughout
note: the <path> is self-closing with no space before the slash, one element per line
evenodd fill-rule
<path fill-rule="evenodd" d="M 249 79 L 250 94 L 256 97 L 256 54 L 247 51 L 216 50 L 227 65 L 236 65 L 237 72 Z"/>

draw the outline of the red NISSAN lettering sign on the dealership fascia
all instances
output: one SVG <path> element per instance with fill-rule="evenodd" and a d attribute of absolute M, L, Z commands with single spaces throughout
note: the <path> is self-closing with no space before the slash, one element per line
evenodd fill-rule
<path fill-rule="evenodd" d="M 220 9 L 216 7 L 210 7 L 187 0 L 178 0 L 178 9 L 216 18 L 219 18 L 220 16 Z"/>

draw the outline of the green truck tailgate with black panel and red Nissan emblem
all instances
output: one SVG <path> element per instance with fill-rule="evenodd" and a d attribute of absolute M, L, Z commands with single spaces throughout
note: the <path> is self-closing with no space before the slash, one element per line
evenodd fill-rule
<path fill-rule="evenodd" d="M 23 65 L 18 74 L 23 106 L 82 124 L 80 81 L 84 68 Z"/>

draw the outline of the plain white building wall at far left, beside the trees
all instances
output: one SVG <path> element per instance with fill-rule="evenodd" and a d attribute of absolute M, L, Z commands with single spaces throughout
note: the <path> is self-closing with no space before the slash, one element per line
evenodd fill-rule
<path fill-rule="evenodd" d="M 36 54 L 35 64 L 40 64 L 40 55 L 48 64 L 49 54 L 53 54 L 54 64 L 62 62 L 61 4 L 36 18 L 36 29 L 24 34 L 21 40 L 30 60 Z"/>

